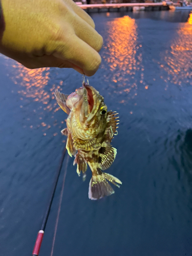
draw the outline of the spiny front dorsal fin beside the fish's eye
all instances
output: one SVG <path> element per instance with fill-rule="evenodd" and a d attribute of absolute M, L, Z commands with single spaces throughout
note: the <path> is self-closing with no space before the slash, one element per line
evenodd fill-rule
<path fill-rule="evenodd" d="M 116 116 L 118 115 L 118 113 L 116 112 L 108 112 L 107 113 L 107 119 L 106 119 L 106 130 L 105 130 L 105 140 L 108 141 L 108 142 L 111 142 L 113 137 L 114 137 L 114 134 L 117 133 L 117 128 L 118 128 L 118 119 L 119 117 Z"/>

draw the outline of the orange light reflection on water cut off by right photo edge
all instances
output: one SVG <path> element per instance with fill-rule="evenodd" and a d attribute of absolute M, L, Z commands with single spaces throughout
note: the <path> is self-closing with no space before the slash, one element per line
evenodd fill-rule
<path fill-rule="evenodd" d="M 170 52 L 167 50 L 163 54 L 165 65 L 161 64 L 168 77 L 165 82 L 170 81 L 182 86 L 182 83 L 192 85 L 192 13 L 187 23 L 178 30 L 176 38 L 172 41 Z M 159 63 L 160 64 L 160 63 Z M 163 78 L 163 77 L 162 77 Z M 166 89 L 165 89 L 166 90 Z"/>

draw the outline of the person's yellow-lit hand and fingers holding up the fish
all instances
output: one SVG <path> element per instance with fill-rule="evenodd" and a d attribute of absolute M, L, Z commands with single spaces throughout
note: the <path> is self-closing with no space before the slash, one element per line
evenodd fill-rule
<path fill-rule="evenodd" d="M 30 69 L 73 68 L 92 76 L 103 39 L 72 0 L 0 0 L 0 52 Z M 2 36 L 1 36 L 2 35 Z"/>

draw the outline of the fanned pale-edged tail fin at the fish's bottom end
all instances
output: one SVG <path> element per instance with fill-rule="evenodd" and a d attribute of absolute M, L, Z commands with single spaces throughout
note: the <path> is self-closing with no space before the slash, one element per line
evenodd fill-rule
<path fill-rule="evenodd" d="M 115 193 L 107 180 L 117 187 L 120 187 L 117 183 L 122 184 L 119 179 L 110 174 L 102 173 L 101 175 L 93 176 L 89 183 L 89 199 L 97 200 Z"/>

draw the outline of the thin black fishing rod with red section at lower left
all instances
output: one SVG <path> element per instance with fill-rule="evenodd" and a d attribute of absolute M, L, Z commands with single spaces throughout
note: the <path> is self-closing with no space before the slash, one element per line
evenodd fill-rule
<path fill-rule="evenodd" d="M 45 216 L 44 216 L 44 220 L 42 221 L 41 228 L 40 228 L 40 230 L 38 231 L 38 234 L 37 234 L 37 238 L 36 238 L 35 246 L 33 248 L 32 256 L 38 256 L 38 254 L 39 254 L 40 246 L 41 246 L 41 243 L 42 243 L 42 239 L 44 237 L 46 224 L 47 224 L 47 221 L 48 221 L 48 218 L 49 218 L 51 205 L 52 205 L 53 198 L 54 198 L 54 195 L 55 195 L 55 190 L 56 190 L 56 187 L 57 187 L 57 182 L 58 182 L 58 179 L 59 179 L 59 175 L 60 175 L 60 172 L 61 172 L 62 163 L 63 163 L 63 160 L 65 158 L 65 155 L 66 155 L 66 144 L 65 144 L 65 149 L 62 152 L 60 162 L 59 162 L 59 166 L 58 166 L 56 177 L 55 177 L 55 182 L 53 183 L 53 189 L 52 189 L 51 197 L 50 197 L 48 207 L 47 207 L 47 210 L 46 210 L 46 213 L 45 213 Z"/>

